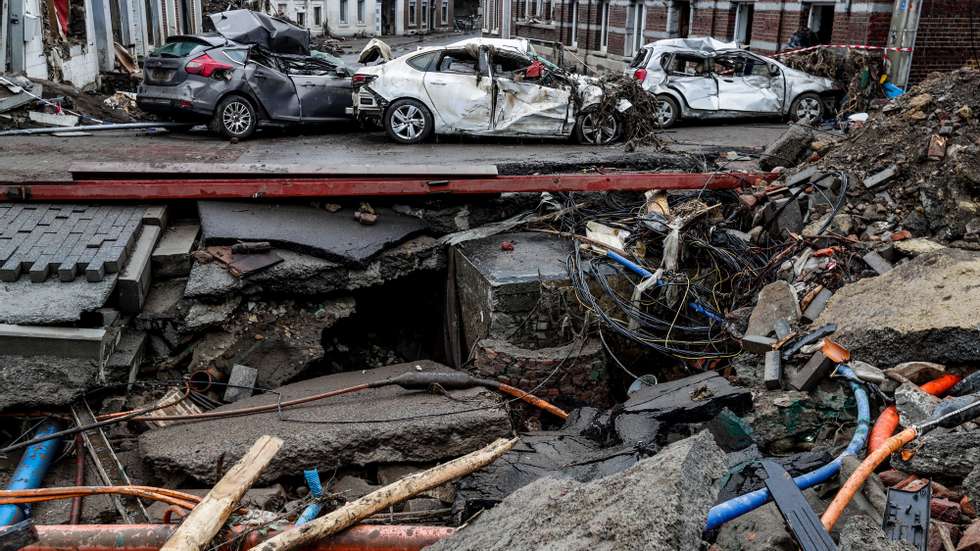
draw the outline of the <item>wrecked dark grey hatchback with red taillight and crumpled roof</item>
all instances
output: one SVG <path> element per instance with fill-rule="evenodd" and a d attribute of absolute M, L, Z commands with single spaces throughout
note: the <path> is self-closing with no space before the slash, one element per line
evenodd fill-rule
<path fill-rule="evenodd" d="M 146 58 L 140 109 L 240 139 L 260 125 L 350 120 L 350 72 L 311 53 L 309 31 L 248 10 L 210 18 L 216 33 L 170 37 Z"/>

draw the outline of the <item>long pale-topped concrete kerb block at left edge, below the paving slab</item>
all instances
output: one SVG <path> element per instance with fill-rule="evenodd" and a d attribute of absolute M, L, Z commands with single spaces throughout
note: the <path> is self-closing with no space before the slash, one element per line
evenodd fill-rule
<path fill-rule="evenodd" d="M 104 328 L 44 327 L 0 324 L 0 350 L 4 354 L 47 354 L 96 360 L 107 356 L 108 333 Z"/>

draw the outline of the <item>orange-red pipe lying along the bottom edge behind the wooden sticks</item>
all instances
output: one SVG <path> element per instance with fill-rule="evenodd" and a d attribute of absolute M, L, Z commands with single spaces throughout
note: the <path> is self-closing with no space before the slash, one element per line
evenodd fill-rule
<path fill-rule="evenodd" d="M 39 541 L 21 551 L 157 551 L 176 525 L 167 524 L 80 524 L 38 526 Z M 248 531 L 252 530 L 252 531 Z M 242 540 L 242 551 L 271 538 L 281 530 L 262 530 L 235 526 L 230 539 Z M 418 551 L 455 532 L 443 526 L 358 525 L 309 551 Z"/>

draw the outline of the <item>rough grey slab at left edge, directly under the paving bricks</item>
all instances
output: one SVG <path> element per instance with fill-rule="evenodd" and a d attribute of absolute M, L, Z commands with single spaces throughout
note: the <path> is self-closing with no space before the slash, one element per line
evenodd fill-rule
<path fill-rule="evenodd" d="M 69 282 L 48 279 L 31 283 L 21 278 L 13 283 L 0 283 L 0 323 L 47 325 L 73 323 L 82 314 L 105 306 L 116 286 L 116 274 L 102 281 L 88 282 L 82 278 Z"/>

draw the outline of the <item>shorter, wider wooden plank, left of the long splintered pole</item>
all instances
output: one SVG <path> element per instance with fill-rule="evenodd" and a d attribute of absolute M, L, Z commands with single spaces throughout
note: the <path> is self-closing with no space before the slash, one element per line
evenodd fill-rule
<path fill-rule="evenodd" d="M 274 436 L 266 435 L 256 440 L 248 453 L 187 515 L 160 551 L 200 551 L 207 546 L 281 447 L 282 440 Z"/>

